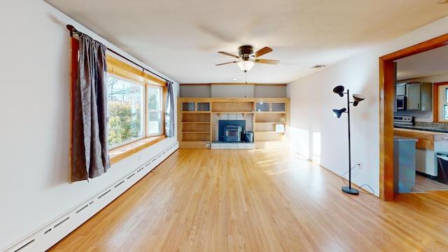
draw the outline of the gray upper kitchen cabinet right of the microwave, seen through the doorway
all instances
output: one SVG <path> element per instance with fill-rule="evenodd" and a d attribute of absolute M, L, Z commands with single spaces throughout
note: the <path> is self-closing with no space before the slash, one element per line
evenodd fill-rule
<path fill-rule="evenodd" d="M 433 110 L 433 83 L 407 83 L 407 110 Z"/>

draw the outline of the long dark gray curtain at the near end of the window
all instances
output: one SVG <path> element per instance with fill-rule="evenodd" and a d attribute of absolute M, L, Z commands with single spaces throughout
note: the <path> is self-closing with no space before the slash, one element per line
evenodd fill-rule
<path fill-rule="evenodd" d="M 79 69 L 73 106 L 71 181 L 104 174 L 108 153 L 106 46 L 79 36 Z"/>

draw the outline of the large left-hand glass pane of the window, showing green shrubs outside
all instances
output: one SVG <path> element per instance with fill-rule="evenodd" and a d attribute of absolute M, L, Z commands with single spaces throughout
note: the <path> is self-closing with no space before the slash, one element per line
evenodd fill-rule
<path fill-rule="evenodd" d="M 144 137 L 144 85 L 108 76 L 109 148 Z"/>

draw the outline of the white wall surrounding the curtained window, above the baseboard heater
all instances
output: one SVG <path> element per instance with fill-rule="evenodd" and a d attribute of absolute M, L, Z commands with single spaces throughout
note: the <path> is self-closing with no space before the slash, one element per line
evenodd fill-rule
<path fill-rule="evenodd" d="M 43 1 L 8 1 L 0 8 L 0 250 L 176 143 L 167 139 L 112 165 L 90 183 L 69 184 L 66 24 L 138 62 Z M 174 92 L 178 97 L 178 83 Z"/>

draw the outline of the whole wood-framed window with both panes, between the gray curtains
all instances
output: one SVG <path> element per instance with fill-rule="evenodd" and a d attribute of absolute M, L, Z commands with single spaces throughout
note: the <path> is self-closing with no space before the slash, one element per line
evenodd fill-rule
<path fill-rule="evenodd" d="M 165 135 L 165 80 L 107 55 L 109 149 Z"/>

